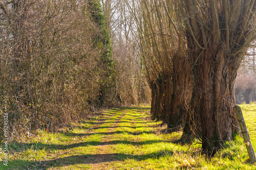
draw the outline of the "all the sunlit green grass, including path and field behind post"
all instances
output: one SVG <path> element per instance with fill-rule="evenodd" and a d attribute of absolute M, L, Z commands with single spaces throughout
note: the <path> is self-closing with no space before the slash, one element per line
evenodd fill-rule
<path fill-rule="evenodd" d="M 256 147 L 256 104 L 240 105 Z M 37 131 L 9 145 L 8 166 L 0 169 L 256 169 L 248 163 L 240 136 L 211 159 L 177 140 L 181 132 L 160 133 L 148 107 L 111 109 L 60 133 Z M 2 147 L 3 148 L 3 147 Z"/>

